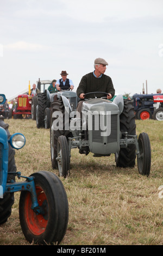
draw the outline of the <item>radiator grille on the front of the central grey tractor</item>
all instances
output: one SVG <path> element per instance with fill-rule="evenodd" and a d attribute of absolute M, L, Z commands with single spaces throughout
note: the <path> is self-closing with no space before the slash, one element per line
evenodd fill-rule
<path fill-rule="evenodd" d="M 117 114 L 92 116 L 92 142 L 103 143 L 104 137 L 107 143 L 117 142 Z M 108 136 L 103 136 L 103 125 L 107 127 Z"/>

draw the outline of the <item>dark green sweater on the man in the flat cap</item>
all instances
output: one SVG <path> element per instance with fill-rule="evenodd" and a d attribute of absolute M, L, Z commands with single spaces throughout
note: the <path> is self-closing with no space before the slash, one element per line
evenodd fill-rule
<path fill-rule="evenodd" d="M 81 93 L 91 93 L 91 92 L 104 92 L 111 93 L 112 97 L 115 95 L 115 89 L 112 84 L 112 80 L 109 76 L 102 75 L 100 78 L 96 78 L 93 75 L 93 72 L 82 77 L 82 80 L 79 83 L 77 88 L 77 95 Z M 96 94 L 96 97 L 105 97 L 105 94 L 99 93 Z M 94 94 L 89 94 L 85 96 L 85 99 L 90 97 L 95 97 Z"/>

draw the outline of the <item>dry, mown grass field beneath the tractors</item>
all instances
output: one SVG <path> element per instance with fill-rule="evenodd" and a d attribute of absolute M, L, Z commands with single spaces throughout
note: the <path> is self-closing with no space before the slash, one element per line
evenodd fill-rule
<path fill-rule="evenodd" d="M 49 130 L 37 129 L 34 120 L 5 121 L 10 133 L 22 132 L 24 148 L 16 151 L 17 171 L 30 175 L 52 169 Z M 71 172 L 65 186 L 69 221 L 61 245 L 163 245 L 163 122 L 136 120 L 136 133 L 147 132 L 151 141 L 151 174 L 135 168 L 116 168 L 115 156 L 80 155 L 72 149 Z M 163 194 L 163 193 L 162 193 Z M 0 245 L 29 245 L 18 216 L 20 192 L 7 223 L 0 226 Z"/>

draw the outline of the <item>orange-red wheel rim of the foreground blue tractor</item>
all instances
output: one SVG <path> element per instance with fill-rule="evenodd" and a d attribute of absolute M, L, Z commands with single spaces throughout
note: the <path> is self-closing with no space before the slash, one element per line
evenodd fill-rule
<path fill-rule="evenodd" d="M 38 214 L 31 209 L 32 200 L 30 193 L 27 193 L 26 201 L 24 202 L 24 216 L 26 217 L 26 223 L 31 233 L 34 235 L 41 235 L 45 232 L 48 223 L 48 203 L 46 194 L 41 187 L 36 186 L 37 201 L 39 206 L 42 206 L 44 215 Z"/>

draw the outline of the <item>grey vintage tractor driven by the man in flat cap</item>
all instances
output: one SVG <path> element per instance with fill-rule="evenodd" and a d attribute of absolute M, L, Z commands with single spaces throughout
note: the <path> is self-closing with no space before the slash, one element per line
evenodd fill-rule
<path fill-rule="evenodd" d="M 151 145 L 145 132 L 137 139 L 132 102 L 122 95 L 111 102 L 106 93 L 97 98 L 98 93 L 93 92 L 95 97 L 83 102 L 82 113 L 73 111 L 63 95 L 52 103 L 52 167 L 66 177 L 70 172 L 71 149 L 78 148 L 80 154 L 91 152 L 95 157 L 115 154 L 116 166 L 123 168 L 134 167 L 137 155 L 139 173 L 149 176 Z"/>

